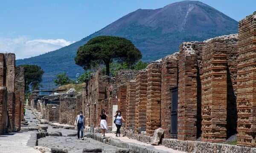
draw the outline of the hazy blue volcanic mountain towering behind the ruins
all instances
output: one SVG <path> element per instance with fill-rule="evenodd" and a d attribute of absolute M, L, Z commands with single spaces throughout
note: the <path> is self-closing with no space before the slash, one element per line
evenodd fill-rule
<path fill-rule="evenodd" d="M 181 1 L 158 9 L 138 9 L 105 28 L 71 45 L 49 53 L 16 60 L 16 65 L 40 65 L 45 71 L 44 88 L 52 87 L 56 74 L 66 72 L 70 78 L 83 69 L 75 64 L 77 49 L 100 35 L 125 37 L 151 62 L 178 51 L 184 41 L 203 41 L 224 34 L 238 33 L 238 22 L 198 1 Z M 51 84 L 51 85 L 50 85 Z"/>

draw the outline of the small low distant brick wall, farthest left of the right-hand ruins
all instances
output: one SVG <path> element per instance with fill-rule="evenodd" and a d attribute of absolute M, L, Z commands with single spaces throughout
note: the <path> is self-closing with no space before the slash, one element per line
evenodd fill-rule
<path fill-rule="evenodd" d="M 58 122 L 60 119 L 60 105 L 47 104 L 47 115 L 46 119 L 49 122 Z"/>

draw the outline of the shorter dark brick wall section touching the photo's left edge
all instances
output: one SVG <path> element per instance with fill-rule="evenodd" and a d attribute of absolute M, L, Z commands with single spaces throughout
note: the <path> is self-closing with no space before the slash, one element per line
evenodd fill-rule
<path fill-rule="evenodd" d="M 7 132 L 7 88 L 0 87 L 0 134 Z"/>

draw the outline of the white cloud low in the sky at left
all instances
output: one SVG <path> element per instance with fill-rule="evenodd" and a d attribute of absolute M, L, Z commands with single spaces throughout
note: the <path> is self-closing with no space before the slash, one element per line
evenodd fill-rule
<path fill-rule="evenodd" d="M 16 59 L 24 59 L 55 51 L 71 43 L 73 42 L 64 39 L 29 40 L 26 36 L 17 38 L 0 37 L 0 53 L 15 53 Z"/>

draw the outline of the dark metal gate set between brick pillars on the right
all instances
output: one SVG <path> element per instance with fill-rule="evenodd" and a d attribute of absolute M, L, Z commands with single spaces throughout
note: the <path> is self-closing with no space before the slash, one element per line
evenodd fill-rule
<path fill-rule="evenodd" d="M 177 139 L 178 134 L 178 86 L 171 88 L 172 105 L 171 105 L 171 138 Z"/>

